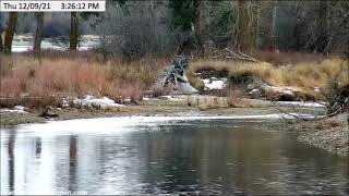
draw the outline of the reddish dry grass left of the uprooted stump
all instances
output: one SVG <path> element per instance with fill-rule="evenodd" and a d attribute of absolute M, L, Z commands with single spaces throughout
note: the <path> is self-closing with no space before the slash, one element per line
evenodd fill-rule
<path fill-rule="evenodd" d="M 27 54 L 1 54 L 0 59 L 2 100 L 87 94 L 108 96 L 116 101 L 141 100 L 166 65 L 165 59 L 103 63 L 85 53 L 61 54 L 60 58 L 45 53 L 39 59 Z"/>

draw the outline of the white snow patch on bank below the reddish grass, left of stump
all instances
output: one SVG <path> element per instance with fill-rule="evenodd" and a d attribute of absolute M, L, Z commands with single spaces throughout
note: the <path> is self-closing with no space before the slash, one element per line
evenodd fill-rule
<path fill-rule="evenodd" d="M 84 107 L 98 107 L 98 108 L 112 108 L 112 107 L 123 107 L 123 105 L 116 103 L 108 97 L 96 98 L 91 95 L 86 95 L 83 99 L 75 98 L 73 100 L 74 105 L 80 105 Z"/>

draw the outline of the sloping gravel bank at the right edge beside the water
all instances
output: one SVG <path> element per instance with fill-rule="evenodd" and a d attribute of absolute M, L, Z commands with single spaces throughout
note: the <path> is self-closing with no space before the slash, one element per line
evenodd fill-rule
<path fill-rule="evenodd" d="M 294 126 L 298 139 L 327 151 L 348 157 L 348 113 L 333 118 L 299 123 Z"/>

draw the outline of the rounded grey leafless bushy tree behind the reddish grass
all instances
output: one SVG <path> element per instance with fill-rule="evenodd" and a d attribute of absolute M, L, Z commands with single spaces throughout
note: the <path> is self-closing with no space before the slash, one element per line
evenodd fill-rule
<path fill-rule="evenodd" d="M 123 7 L 109 7 L 101 16 L 103 23 L 96 26 L 99 51 L 122 54 L 128 60 L 173 51 L 177 40 L 164 20 L 167 9 L 163 1 L 127 1 Z"/>

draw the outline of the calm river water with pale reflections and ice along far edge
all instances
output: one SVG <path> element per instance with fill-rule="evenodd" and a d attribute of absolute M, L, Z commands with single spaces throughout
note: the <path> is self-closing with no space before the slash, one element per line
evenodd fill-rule
<path fill-rule="evenodd" d="M 273 123 L 139 117 L 2 128 L 1 194 L 348 195 L 348 159 Z"/>

